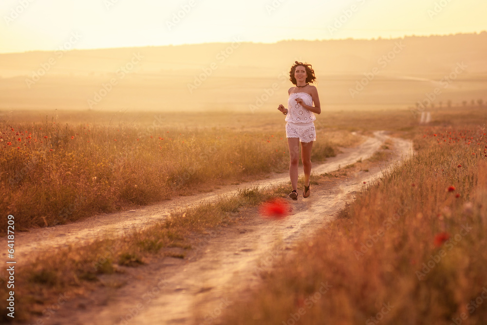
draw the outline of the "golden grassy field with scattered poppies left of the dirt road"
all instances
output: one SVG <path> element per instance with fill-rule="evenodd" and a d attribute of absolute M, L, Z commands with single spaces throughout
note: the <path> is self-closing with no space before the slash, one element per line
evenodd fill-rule
<path fill-rule="evenodd" d="M 278 113 L 250 116 L 257 122 L 217 113 L 155 116 L 155 122 L 149 113 L 35 117 L 18 113 L 0 121 L 0 210 L 16 216 L 18 229 L 210 191 L 286 172 L 289 164 Z M 360 141 L 325 127 L 318 138 L 314 162 Z M 6 222 L 2 217 L 1 234 Z"/>

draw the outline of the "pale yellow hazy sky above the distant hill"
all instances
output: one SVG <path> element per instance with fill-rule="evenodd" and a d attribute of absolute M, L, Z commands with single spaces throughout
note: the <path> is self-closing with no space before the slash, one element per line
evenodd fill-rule
<path fill-rule="evenodd" d="M 0 53 L 66 42 L 89 49 L 481 32 L 486 13 L 486 0 L 2 0 Z"/>

